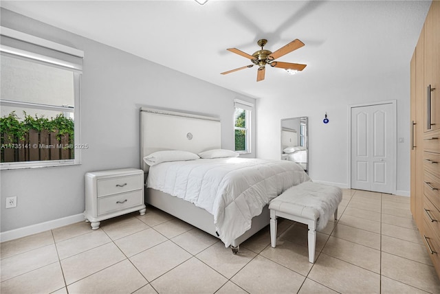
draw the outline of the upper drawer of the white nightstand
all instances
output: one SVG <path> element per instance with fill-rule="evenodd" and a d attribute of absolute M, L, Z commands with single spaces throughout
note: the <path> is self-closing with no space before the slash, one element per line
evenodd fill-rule
<path fill-rule="evenodd" d="M 98 197 L 142 189 L 142 174 L 98 180 Z"/>

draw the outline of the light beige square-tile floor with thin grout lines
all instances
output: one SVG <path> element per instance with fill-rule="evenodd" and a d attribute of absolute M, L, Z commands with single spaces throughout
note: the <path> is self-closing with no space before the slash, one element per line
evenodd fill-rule
<path fill-rule="evenodd" d="M 440 293 L 410 199 L 344 190 L 338 220 L 317 236 L 278 222 L 233 255 L 223 243 L 154 207 L 1 243 L 5 293 Z"/>

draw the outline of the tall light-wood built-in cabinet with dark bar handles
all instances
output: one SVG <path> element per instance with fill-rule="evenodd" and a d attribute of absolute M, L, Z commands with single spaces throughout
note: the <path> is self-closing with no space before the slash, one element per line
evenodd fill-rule
<path fill-rule="evenodd" d="M 411 59 L 411 212 L 440 277 L 440 1 Z"/>

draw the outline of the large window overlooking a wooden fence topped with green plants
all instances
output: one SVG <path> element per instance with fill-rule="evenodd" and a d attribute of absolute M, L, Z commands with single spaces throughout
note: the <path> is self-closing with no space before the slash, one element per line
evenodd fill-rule
<path fill-rule="evenodd" d="M 83 52 L 1 27 L 1 169 L 80 163 Z"/>

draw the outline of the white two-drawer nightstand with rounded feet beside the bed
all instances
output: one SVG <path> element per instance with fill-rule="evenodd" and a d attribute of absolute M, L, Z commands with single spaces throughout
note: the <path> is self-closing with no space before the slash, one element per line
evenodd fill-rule
<path fill-rule="evenodd" d="M 92 229 L 101 220 L 139 210 L 145 214 L 144 171 L 135 168 L 85 174 L 85 212 Z"/>

